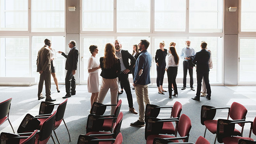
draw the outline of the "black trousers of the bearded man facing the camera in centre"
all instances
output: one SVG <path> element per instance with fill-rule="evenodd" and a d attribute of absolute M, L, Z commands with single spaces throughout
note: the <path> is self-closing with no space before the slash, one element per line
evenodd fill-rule
<path fill-rule="evenodd" d="M 118 79 L 119 79 L 120 83 L 123 84 L 123 87 L 125 89 L 125 93 L 126 93 L 128 104 L 129 104 L 129 108 L 132 108 L 133 107 L 133 100 L 132 100 L 131 87 L 130 87 L 130 81 L 128 79 L 128 74 L 123 74 L 121 72 L 121 74 L 118 74 Z"/>

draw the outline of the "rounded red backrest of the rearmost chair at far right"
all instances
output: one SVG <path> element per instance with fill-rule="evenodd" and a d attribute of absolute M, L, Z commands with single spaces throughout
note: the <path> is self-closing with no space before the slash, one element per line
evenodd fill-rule
<path fill-rule="evenodd" d="M 233 120 L 242 120 L 246 118 L 247 110 L 246 108 L 241 105 L 240 103 L 233 102 L 230 106 L 229 116 Z M 239 123 L 242 127 L 242 123 Z"/>

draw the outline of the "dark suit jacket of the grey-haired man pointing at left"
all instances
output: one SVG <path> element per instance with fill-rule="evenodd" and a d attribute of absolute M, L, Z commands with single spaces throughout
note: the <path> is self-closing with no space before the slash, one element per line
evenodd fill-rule
<path fill-rule="evenodd" d="M 67 58 L 65 66 L 66 70 L 77 70 L 79 52 L 76 47 L 74 47 L 73 50 L 69 51 L 68 55 L 63 52 L 61 53 L 61 55 Z"/>

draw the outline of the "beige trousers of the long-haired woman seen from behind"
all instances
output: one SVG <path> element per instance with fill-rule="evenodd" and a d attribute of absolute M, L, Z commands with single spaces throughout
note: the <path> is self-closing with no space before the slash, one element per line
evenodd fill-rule
<path fill-rule="evenodd" d="M 118 95 L 118 78 L 114 79 L 105 79 L 102 77 L 102 84 L 100 86 L 99 96 L 97 99 L 98 103 L 103 103 L 107 91 L 110 89 L 111 94 L 111 105 L 117 104 L 117 95 Z M 116 106 L 111 106 L 111 115 L 114 114 Z"/>

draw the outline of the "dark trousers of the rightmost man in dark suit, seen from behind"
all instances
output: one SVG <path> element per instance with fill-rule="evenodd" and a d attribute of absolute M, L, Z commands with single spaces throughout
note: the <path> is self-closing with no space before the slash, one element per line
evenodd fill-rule
<path fill-rule="evenodd" d="M 204 77 L 204 82 L 206 86 L 206 93 L 208 97 L 211 97 L 211 86 L 209 83 L 209 72 L 197 72 L 196 73 L 196 78 L 197 78 L 197 91 L 196 91 L 196 96 L 200 96 L 201 92 L 201 86 L 202 86 L 202 78 Z"/>

